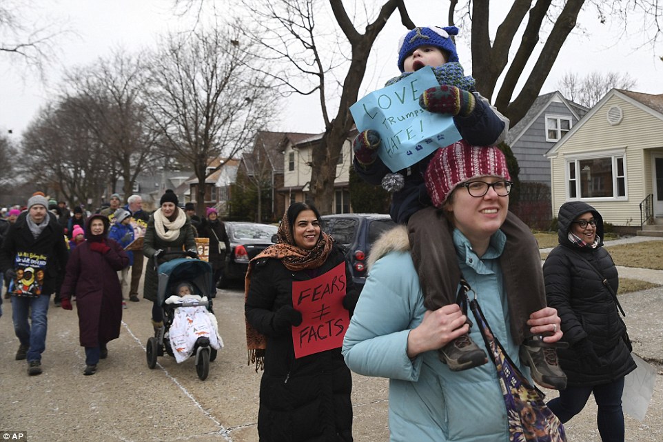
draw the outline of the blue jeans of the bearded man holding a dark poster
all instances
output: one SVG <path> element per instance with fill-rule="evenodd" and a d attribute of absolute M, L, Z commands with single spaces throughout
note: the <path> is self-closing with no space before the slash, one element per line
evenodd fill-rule
<path fill-rule="evenodd" d="M 50 296 L 42 294 L 35 298 L 12 296 L 12 319 L 14 333 L 21 345 L 29 346 L 28 362 L 41 361 L 46 348 L 46 325 Z M 28 322 L 28 317 L 30 321 Z"/>

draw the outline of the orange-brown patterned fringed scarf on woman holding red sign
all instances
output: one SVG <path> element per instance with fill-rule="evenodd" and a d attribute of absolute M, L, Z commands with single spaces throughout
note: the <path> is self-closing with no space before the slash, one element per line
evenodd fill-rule
<path fill-rule="evenodd" d="M 281 259 L 285 268 L 292 271 L 319 268 L 320 265 L 323 265 L 325 261 L 327 261 L 329 253 L 332 252 L 332 247 L 334 246 L 334 239 L 332 239 L 332 237 L 321 231 L 318 243 L 316 243 L 311 250 L 306 250 L 295 245 L 289 225 L 287 212 L 285 212 L 285 214 L 283 214 L 283 220 L 281 220 L 281 225 L 278 226 L 278 232 L 276 232 L 276 244 L 270 245 L 249 261 L 249 267 L 247 268 L 244 280 L 245 303 L 249 295 L 249 288 L 251 287 L 251 272 L 258 259 Z M 256 372 L 258 372 L 258 370 L 264 370 L 267 338 L 264 334 L 253 328 L 253 326 L 246 321 L 246 317 L 245 324 L 246 346 L 248 351 L 247 365 L 251 365 L 252 363 L 256 364 Z"/>

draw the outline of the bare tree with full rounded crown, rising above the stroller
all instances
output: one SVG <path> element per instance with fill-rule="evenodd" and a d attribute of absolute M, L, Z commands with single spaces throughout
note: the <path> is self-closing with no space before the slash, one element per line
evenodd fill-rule
<path fill-rule="evenodd" d="M 276 112 L 273 89 L 249 68 L 254 59 L 241 44 L 218 28 L 170 34 L 150 61 L 154 123 L 165 149 L 192 165 L 198 183 L 218 170 L 207 169 L 211 159 L 234 159 Z M 203 214 L 204 185 L 196 201 Z"/>

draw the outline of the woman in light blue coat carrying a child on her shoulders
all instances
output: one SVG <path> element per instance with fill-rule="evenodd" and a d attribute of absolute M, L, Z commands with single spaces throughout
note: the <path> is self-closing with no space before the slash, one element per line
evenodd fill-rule
<path fill-rule="evenodd" d="M 431 202 L 445 214 L 443 221 L 431 224 L 427 241 L 447 248 L 441 243 L 442 233 L 450 225 L 452 250 L 447 259 L 476 293 L 493 336 L 527 376 L 519 356 L 522 340 L 514 332 L 520 327 L 511 325 L 522 319 L 517 310 L 532 294 L 524 286 L 507 290 L 500 260 L 506 250 L 507 235 L 501 228 L 511 190 L 504 154 L 495 147 L 455 143 L 436 152 L 424 178 Z M 540 257 L 533 259 L 540 265 Z M 487 361 L 454 371 L 438 356 L 440 348 L 463 335 L 485 348 L 478 321 L 473 317 L 468 323 L 472 314 L 466 315 L 453 301 L 427 308 L 421 277 L 405 226 L 386 232 L 372 246 L 369 277 L 343 341 L 347 366 L 365 376 L 389 378 L 391 442 L 510 440 L 512 415 L 497 364 Z M 453 287 L 445 296 L 455 300 L 458 289 Z M 561 338 L 560 318 L 553 308 L 544 306 L 526 319 L 531 334 L 550 334 L 544 342 Z M 546 440 L 558 441 L 549 430 L 542 430 Z"/>

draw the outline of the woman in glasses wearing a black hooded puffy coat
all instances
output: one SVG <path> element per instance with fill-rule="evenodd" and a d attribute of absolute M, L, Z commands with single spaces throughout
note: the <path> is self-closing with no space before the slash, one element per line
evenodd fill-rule
<path fill-rule="evenodd" d="M 591 205 L 571 201 L 560 207 L 558 245 L 543 265 L 549 305 L 562 319 L 558 350 L 567 389 L 549 401 L 560 421 L 578 414 L 594 394 L 602 441 L 624 441 L 624 376 L 635 370 L 630 343 L 622 336 L 616 297 L 619 278 L 603 247 L 603 218 Z M 604 284 L 605 281 L 605 285 Z"/>

